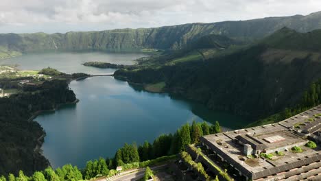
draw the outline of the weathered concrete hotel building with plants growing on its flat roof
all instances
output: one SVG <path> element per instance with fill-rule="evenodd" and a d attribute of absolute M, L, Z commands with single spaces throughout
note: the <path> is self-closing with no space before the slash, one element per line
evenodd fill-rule
<path fill-rule="evenodd" d="M 201 142 L 243 180 L 321 180 L 320 146 L 305 146 L 309 140 L 320 143 L 320 130 L 321 106 L 316 106 L 279 123 L 211 134 Z"/>

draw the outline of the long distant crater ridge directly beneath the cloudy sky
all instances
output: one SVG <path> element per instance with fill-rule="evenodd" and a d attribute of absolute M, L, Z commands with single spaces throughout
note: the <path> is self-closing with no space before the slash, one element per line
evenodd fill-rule
<path fill-rule="evenodd" d="M 102 32 L 0 34 L 0 48 L 7 49 L 14 54 L 52 49 L 103 51 L 138 51 L 144 48 L 181 49 L 209 34 L 219 34 L 243 42 L 251 42 L 272 34 L 282 27 L 289 27 L 298 32 L 309 32 L 321 28 L 321 12 L 307 16 L 191 23 L 156 28 L 114 29 Z"/>

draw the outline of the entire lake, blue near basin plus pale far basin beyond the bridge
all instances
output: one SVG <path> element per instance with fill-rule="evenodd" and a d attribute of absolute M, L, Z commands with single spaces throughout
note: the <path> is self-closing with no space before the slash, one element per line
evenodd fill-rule
<path fill-rule="evenodd" d="M 87 61 L 133 64 L 140 53 L 31 53 L 0 60 L 20 69 L 53 67 L 65 73 L 111 73 L 115 69 L 82 66 Z M 76 105 L 36 117 L 47 132 L 43 154 L 53 167 L 67 163 L 82 168 L 87 160 L 114 156 L 123 143 L 138 144 L 164 133 L 173 133 L 191 121 L 219 121 L 224 129 L 241 128 L 249 121 L 226 112 L 206 109 L 186 99 L 147 93 L 113 77 L 90 77 L 69 84 L 80 99 Z"/>

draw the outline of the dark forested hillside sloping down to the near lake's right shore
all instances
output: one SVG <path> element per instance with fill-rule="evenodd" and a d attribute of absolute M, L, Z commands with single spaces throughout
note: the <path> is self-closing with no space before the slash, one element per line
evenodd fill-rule
<path fill-rule="evenodd" d="M 206 61 L 122 69 L 130 82 L 165 82 L 169 93 L 211 109 L 258 119 L 298 104 L 303 91 L 321 77 L 321 30 L 283 28 L 252 46 Z"/>

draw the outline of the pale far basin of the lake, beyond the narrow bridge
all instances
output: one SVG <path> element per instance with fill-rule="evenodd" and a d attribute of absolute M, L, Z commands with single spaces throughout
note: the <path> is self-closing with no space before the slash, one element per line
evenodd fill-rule
<path fill-rule="evenodd" d="M 110 62 L 114 64 L 134 64 L 134 59 L 145 56 L 141 53 L 102 53 L 102 52 L 39 52 L 29 53 L 5 60 L 0 60 L 0 65 L 19 65 L 23 70 L 40 70 L 52 67 L 64 73 L 108 73 L 115 69 L 97 69 L 86 67 L 82 63 L 89 61 Z"/>

